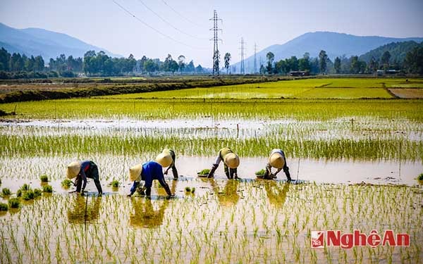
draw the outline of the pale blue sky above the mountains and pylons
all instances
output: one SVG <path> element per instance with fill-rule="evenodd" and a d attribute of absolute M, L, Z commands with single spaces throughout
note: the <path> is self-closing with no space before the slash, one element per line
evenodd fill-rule
<path fill-rule="evenodd" d="M 140 23 L 114 1 L 168 37 Z M 233 63 L 240 59 L 241 37 L 245 57 L 253 54 L 255 43 L 261 50 L 314 31 L 423 37 L 421 0 L 0 0 L 0 22 L 66 33 L 123 56 L 132 53 L 136 58 L 163 60 L 167 54 L 175 59 L 183 54 L 188 61 L 210 67 L 213 25 L 209 18 L 214 9 L 223 19 L 219 49 L 221 54 L 230 52 Z"/>

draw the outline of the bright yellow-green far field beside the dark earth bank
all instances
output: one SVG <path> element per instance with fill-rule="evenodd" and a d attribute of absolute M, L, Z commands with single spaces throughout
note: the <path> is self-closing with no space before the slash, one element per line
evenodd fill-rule
<path fill-rule="evenodd" d="M 421 88 L 423 80 L 404 79 L 307 79 L 240 84 L 222 87 L 193 88 L 176 91 L 147 92 L 106 96 L 114 99 L 192 98 L 192 99 L 360 99 L 393 98 L 386 88 Z"/>

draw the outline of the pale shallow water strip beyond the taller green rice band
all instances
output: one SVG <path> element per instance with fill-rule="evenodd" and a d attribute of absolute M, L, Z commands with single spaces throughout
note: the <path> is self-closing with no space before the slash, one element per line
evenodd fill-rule
<path fill-rule="evenodd" d="M 351 120 L 354 120 L 351 122 Z M 216 120 L 212 117 L 173 120 L 12 120 L 0 122 L 2 134 L 46 135 L 167 135 L 195 138 L 279 137 L 303 140 L 333 139 L 407 139 L 422 141 L 421 124 L 408 120 L 378 120 L 377 118 L 338 118 L 336 120 Z"/>

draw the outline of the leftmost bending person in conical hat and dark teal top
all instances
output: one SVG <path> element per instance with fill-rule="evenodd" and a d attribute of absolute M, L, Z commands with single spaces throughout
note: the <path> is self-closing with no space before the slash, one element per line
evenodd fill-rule
<path fill-rule="evenodd" d="M 76 192 L 80 194 L 83 194 L 87 186 L 87 178 L 94 180 L 99 195 L 103 194 L 102 184 L 99 180 L 99 169 L 93 161 L 73 161 L 69 163 L 66 169 L 66 177 L 69 180 L 76 177 L 74 186 L 76 186 Z"/>

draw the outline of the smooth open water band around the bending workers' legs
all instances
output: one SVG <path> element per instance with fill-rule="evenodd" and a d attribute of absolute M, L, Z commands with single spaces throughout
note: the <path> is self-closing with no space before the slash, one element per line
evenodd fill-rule
<path fill-rule="evenodd" d="M 99 166 L 99 173 L 104 190 L 110 193 L 125 194 L 130 188 L 128 170 L 130 166 L 153 157 L 126 156 L 97 156 L 89 157 Z M 179 179 L 173 182 L 174 188 L 183 191 L 186 186 L 204 187 L 197 172 L 204 168 L 211 168 L 215 157 L 177 156 L 176 166 Z M 61 188 L 61 181 L 65 179 L 66 164 L 73 161 L 71 157 L 37 157 L 37 158 L 0 158 L 0 178 L 2 187 L 16 191 L 24 183 L 32 187 L 40 187 L 39 176 L 48 175 L 50 184 L 57 192 L 68 190 Z M 301 182 L 317 182 L 331 184 L 417 184 L 415 178 L 423 172 L 422 161 L 393 162 L 393 161 L 324 161 L 312 159 L 287 159 L 290 175 L 293 180 Z M 255 172 L 266 165 L 266 158 L 241 158 L 238 175 L 243 180 L 255 180 Z M 171 170 L 165 175 L 167 180 L 173 180 Z M 216 180 L 227 180 L 223 172 L 223 165 L 215 173 Z M 112 189 L 107 185 L 112 180 L 121 182 L 121 188 Z M 286 175 L 279 172 L 276 181 L 285 181 Z M 207 185 L 207 184 L 206 184 Z M 207 186 L 206 186 L 207 187 Z M 72 188 L 71 188 L 72 189 Z M 87 185 L 88 191 L 97 191 L 94 183 Z M 201 191 L 200 191 L 201 192 Z"/>

